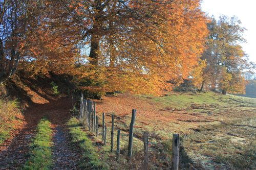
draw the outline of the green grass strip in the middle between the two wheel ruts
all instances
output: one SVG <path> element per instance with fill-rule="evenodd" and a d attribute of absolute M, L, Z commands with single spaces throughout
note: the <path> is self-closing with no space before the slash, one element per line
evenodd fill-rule
<path fill-rule="evenodd" d="M 52 130 L 47 116 L 37 125 L 37 134 L 31 140 L 29 159 L 23 169 L 50 169 L 52 165 Z"/>

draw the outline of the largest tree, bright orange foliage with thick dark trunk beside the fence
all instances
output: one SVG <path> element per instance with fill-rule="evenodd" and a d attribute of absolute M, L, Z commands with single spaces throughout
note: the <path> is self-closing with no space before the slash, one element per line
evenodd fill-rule
<path fill-rule="evenodd" d="M 85 59 L 77 81 L 92 91 L 172 89 L 197 63 L 207 34 L 198 0 L 65 1 Z"/>

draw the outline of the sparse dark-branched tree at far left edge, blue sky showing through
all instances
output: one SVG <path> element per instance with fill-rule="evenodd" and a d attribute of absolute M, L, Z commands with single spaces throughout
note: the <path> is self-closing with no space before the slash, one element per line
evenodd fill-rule
<path fill-rule="evenodd" d="M 19 48 L 27 31 L 27 10 L 23 3 L 0 2 L 0 84 L 14 74 L 22 55 Z"/>

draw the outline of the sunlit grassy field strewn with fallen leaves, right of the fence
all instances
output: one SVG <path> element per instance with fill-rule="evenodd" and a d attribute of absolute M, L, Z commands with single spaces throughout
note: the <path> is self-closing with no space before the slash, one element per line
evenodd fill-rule
<path fill-rule="evenodd" d="M 125 160 L 128 146 L 132 109 L 137 110 L 134 137 L 134 159 Z M 101 136 L 87 132 L 97 148 L 99 160 L 108 158 L 106 167 L 138 169 L 143 164 L 143 131 L 150 133 L 149 169 L 170 167 L 172 135 L 181 136 L 180 168 L 189 169 L 254 169 L 256 100 L 215 92 L 179 93 L 163 96 L 118 94 L 96 101 L 99 116 L 99 134 L 102 133 L 102 112 L 106 114 L 106 147 Z M 120 147 L 123 155 L 116 161 L 110 153 L 111 115 L 115 115 L 114 143 L 121 130 Z M 116 149 L 116 145 L 114 145 Z"/>

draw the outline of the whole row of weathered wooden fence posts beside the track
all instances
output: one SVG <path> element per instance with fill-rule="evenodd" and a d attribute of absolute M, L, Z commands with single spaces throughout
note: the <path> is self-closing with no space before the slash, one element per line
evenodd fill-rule
<path fill-rule="evenodd" d="M 98 138 L 98 120 L 99 117 L 96 115 L 96 104 L 93 101 L 83 99 L 83 95 L 81 93 L 81 101 L 80 101 L 80 114 L 79 118 L 86 119 L 86 126 L 89 128 L 89 131 L 95 133 Z M 111 129 L 111 152 L 114 153 L 114 118 L 115 115 L 112 114 L 112 129 Z M 132 119 L 130 124 L 129 131 L 129 143 L 128 143 L 128 160 L 130 161 L 132 158 L 133 151 L 133 133 L 136 119 L 136 110 L 132 110 Z M 91 131 L 92 130 L 92 131 Z M 106 145 L 106 130 L 107 127 L 105 125 L 105 113 L 102 113 L 102 142 Z M 144 143 L 144 163 L 143 169 L 147 169 L 148 164 L 148 132 L 143 133 L 143 143 Z M 120 155 L 120 129 L 117 131 L 117 160 L 119 160 Z M 180 135 L 173 134 L 173 158 L 172 158 L 172 169 L 178 170 L 179 168 L 179 151 L 180 151 Z"/>

